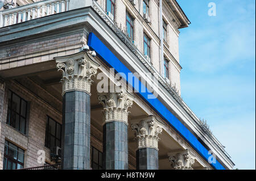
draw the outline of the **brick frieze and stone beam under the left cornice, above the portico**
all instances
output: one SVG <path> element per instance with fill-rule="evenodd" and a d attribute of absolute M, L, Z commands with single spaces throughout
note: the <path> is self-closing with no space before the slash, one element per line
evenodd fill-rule
<path fill-rule="evenodd" d="M 16 68 L 18 66 L 36 64 L 53 60 L 56 56 L 65 56 L 79 52 L 86 43 L 83 33 L 62 37 L 49 37 L 48 40 L 20 45 L 9 45 L 0 52 L 0 70 Z"/>

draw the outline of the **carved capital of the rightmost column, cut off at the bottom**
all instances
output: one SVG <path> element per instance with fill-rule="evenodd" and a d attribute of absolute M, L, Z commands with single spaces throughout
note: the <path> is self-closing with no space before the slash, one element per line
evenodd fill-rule
<path fill-rule="evenodd" d="M 192 165 L 195 163 L 195 156 L 190 150 L 169 153 L 169 161 L 174 170 L 193 170 Z"/>

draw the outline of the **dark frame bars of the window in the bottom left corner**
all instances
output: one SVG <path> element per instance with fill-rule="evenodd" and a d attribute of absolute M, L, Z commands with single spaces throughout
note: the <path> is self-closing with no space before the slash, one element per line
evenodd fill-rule
<path fill-rule="evenodd" d="M 6 143 L 7 143 L 7 145 L 6 145 Z M 18 148 L 18 150 L 16 150 L 17 158 L 15 159 L 15 158 L 11 157 L 11 155 L 9 155 L 9 147 L 10 147 L 9 144 L 10 143 L 13 144 L 12 142 L 5 140 L 5 150 L 4 150 L 4 154 L 3 154 L 3 161 L 6 159 L 5 165 L 8 166 L 8 162 L 11 161 L 11 162 L 15 163 L 15 169 L 18 169 L 18 164 L 21 165 L 22 168 L 24 168 L 25 150 L 23 150 L 19 146 L 16 146 L 15 144 L 13 144 Z M 23 153 L 22 153 L 23 154 L 23 162 L 19 161 L 19 153 L 18 153 L 19 149 L 23 151 Z M 7 154 L 6 154 L 6 151 L 7 151 Z M 7 170 L 5 165 L 3 165 L 3 170 Z"/>

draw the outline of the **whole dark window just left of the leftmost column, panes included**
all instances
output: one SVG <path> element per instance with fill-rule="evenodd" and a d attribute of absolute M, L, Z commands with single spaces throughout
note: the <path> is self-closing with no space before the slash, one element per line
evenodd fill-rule
<path fill-rule="evenodd" d="M 47 116 L 46 121 L 46 141 L 44 146 L 49 148 L 52 153 L 55 152 L 57 146 L 61 148 L 61 124 L 49 116 Z"/>

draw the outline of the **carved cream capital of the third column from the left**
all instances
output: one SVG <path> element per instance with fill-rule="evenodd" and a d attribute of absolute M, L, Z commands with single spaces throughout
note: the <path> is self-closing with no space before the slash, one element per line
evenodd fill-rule
<path fill-rule="evenodd" d="M 154 116 L 142 120 L 139 124 L 131 125 L 131 128 L 136 133 L 138 148 L 155 148 L 158 150 L 158 134 L 162 133 L 162 128 L 159 127 Z"/>

